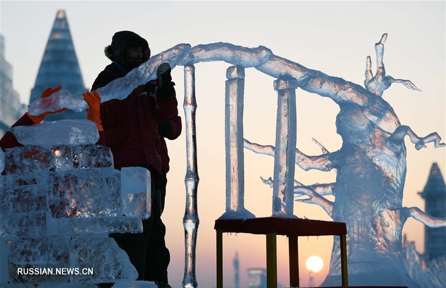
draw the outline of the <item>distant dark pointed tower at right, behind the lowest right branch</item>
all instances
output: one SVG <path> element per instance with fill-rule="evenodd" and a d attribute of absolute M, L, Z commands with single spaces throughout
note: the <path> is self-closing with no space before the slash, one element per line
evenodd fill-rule
<path fill-rule="evenodd" d="M 437 163 L 432 164 L 428 181 L 423 192 L 418 193 L 425 200 L 425 211 L 433 217 L 446 216 L 446 186 Z M 424 260 L 446 256 L 446 227 L 424 229 Z"/>

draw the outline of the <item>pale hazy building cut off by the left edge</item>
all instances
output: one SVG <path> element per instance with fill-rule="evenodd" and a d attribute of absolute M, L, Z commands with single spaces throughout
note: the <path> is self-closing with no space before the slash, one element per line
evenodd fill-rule
<path fill-rule="evenodd" d="M 12 66 L 6 61 L 4 45 L 0 35 L 0 137 L 25 112 L 20 95 L 12 88 Z"/>

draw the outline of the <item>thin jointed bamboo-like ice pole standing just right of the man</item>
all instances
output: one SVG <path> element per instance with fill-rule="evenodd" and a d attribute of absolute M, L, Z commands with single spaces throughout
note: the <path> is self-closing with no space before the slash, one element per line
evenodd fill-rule
<path fill-rule="evenodd" d="M 184 67 L 184 113 L 186 125 L 186 158 L 187 170 L 186 184 L 186 211 L 183 218 L 185 233 L 185 267 L 183 287 L 197 287 L 195 276 L 195 249 L 196 235 L 198 230 L 198 211 L 196 193 L 198 188 L 198 169 L 196 161 L 196 131 L 195 131 L 195 67 L 186 65 Z"/>

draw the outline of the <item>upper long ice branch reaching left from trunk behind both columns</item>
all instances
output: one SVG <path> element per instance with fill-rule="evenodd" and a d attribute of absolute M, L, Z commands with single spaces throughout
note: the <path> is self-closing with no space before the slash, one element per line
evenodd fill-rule
<path fill-rule="evenodd" d="M 263 146 L 257 143 L 251 143 L 244 139 L 244 147 L 258 154 L 265 154 L 274 157 L 274 146 Z M 330 158 L 334 153 L 323 154 L 319 156 L 308 156 L 296 149 L 296 164 L 305 171 L 316 169 L 320 171 L 330 171 L 334 165 Z"/>

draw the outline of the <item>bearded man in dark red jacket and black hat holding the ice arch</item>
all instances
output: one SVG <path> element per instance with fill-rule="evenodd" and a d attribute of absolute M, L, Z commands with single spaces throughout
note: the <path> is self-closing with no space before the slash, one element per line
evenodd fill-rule
<path fill-rule="evenodd" d="M 147 41 L 136 33 L 120 31 L 113 36 L 105 54 L 113 62 L 99 73 L 92 89 L 124 77 L 150 58 L 150 49 Z M 157 80 L 136 87 L 126 99 L 102 103 L 101 119 L 115 168 L 147 168 L 152 185 L 152 213 L 148 220 L 143 220 L 143 232 L 111 236 L 127 252 L 138 271 L 138 280 L 157 281 L 159 287 L 170 287 L 167 284 L 170 254 L 164 241 L 166 228 L 160 218 L 169 171 L 164 138 L 173 140 L 180 135 L 181 118 L 170 68 L 159 70 L 158 74 Z"/>

